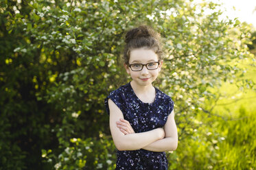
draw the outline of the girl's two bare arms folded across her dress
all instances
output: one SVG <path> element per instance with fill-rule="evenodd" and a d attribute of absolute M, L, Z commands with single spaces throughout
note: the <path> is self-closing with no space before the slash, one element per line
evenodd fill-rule
<path fill-rule="evenodd" d="M 135 133 L 130 123 L 115 103 L 108 99 L 110 132 L 119 151 L 146 149 L 148 151 L 173 151 L 178 146 L 178 133 L 174 111 L 168 116 L 164 127 L 148 132 Z"/>

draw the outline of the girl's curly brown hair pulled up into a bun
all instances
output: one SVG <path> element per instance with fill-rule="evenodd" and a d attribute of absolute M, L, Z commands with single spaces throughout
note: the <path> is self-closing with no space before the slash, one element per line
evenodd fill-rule
<path fill-rule="evenodd" d="M 158 32 L 148 25 L 141 25 L 130 29 L 126 33 L 124 42 L 126 42 L 124 48 L 124 63 L 129 64 L 130 51 L 132 49 L 146 48 L 152 49 L 159 60 L 162 60 L 163 51 L 161 45 L 161 36 Z"/>

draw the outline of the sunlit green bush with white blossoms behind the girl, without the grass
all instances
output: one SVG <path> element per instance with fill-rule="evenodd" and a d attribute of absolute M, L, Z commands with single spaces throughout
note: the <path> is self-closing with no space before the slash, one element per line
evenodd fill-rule
<path fill-rule="evenodd" d="M 185 162 L 189 153 L 195 165 L 207 159 L 204 169 L 216 163 L 216 143 L 222 141 L 222 136 L 210 132 L 197 116 L 208 111 L 204 107 L 207 100 L 218 98 L 223 81 L 240 89 L 255 88 L 254 82 L 242 78 L 246 70 L 237 64 L 253 58 L 245 47 L 250 28 L 237 19 L 220 21 L 222 12 L 216 3 L 5 1 L 0 10 L 4 23 L 0 36 L 12 38 L 11 44 L 1 49 L 8 49 L 1 59 L 1 69 L 6 71 L 0 72 L 0 81 L 8 83 L 2 88 L 1 104 L 10 101 L 3 107 L 4 115 L 14 117 L 15 110 L 10 106 L 21 105 L 20 100 L 27 94 L 34 97 L 34 107 L 26 100 L 24 106 L 17 106 L 27 108 L 25 118 L 20 120 L 30 115 L 36 120 L 32 121 L 32 132 L 37 134 L 40 129 L 40 138 L 47 134 L 58 143 L 58 147 L 45 144 L 52 151 L 42 150 L 46 164 L 55 169 L 115 168 L 113 141 L 104 138 L 110 136 L 104 98 L 129 81 L 121 61 L 126 29 L 147 23 L 163 37 L 165 58 L 156 86 L 175 103 L 181 150 L 169 155 L 174 168 L 178 162 L 183 162 L 184 169 L 193 167 Z M 237 81 L 237 75 L 241 81 Z M 21 88 L 24 83 L 29 87 L 26 93 Z M 45 109 L 40 115 L 47 116 L 40 120 L 37 114 L 28 114 L 31 108 L 36 108 L 36 113 Z M 11 126 L 12 117 L 6 117 L 0 123 L 4 135 L 10 136 L 5 129 Z M 43 120 L 47 125 L 36 128 Z M 31 130 L 24 133 L 30 134 Z M 202 147 L 198 149 L 198 145 Z M 17 145 L 11 149 L 19 152 Z M 205 152 L 205 156 L 200 155 Z M 3 158 L 6 162 L 7 157 Z M 23 167 L 22 161 L 18 163 Z"/>

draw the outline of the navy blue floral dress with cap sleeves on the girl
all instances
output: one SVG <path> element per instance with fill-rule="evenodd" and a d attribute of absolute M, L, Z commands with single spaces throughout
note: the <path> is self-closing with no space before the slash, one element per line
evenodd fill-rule
<path fill-rule="evenodd" d="M 105 99 L 109 114 L 108 99 L 111 99 L 130 122 L 135 133 L 147 132 L 163 127 L 168 115 L 174 108 L 171 97 L 155 88 L 156 97 L 152 104 L 143 103 L 132 90 L 130 83 L 120 86 Z M 116 169 L 167 169 L 165 152 L 139 149 L 135 151 L 117 151 Z"/>

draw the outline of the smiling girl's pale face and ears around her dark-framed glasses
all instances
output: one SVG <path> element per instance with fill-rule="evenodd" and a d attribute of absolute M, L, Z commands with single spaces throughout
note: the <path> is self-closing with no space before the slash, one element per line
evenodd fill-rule
<path fill-rule="evenodd" d="M 158 68 L 148 70 L 146 66 L 143 66 L 141 71 L 132 71 L 129 65 L 124 65 L 126 67 L 126 72 L 130 75 L 130 77 L 132 77 L 132 81 L 139 86 L 148 86 L 151 85 L 154 80 L 156 80 L 157 76 L 159 75 L 159 71 L 161 71 L 163 61 L 159 61 L 158 56 L 152 49 L 139 48 L 132 49 L 130 51 L 129 64 L 148 64 L 151 62 L 159 62 Z"/>

